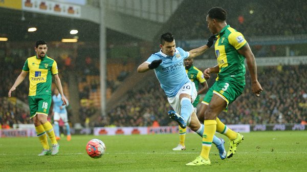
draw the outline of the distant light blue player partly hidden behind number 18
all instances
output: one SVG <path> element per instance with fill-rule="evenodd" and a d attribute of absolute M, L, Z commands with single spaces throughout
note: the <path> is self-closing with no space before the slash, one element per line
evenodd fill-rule
<path fill-rule="evenodd" d="M 54 90 L 54 95 L 52 96 L 53 101 L 53 121 L 54 121 L 54 132 L 56 139 L 60 139 L 60 126 L 59 120 L 62 119 L 67 131 L 67 140 L 70 141 L 72 139 L 70 133 L 70 126 L 68 123 L 67 110 L 66 106 L 69 104 L 68 100 L 66 100 L 67 105 L 62 105 L 62 98 L 57 89 Z"/>

